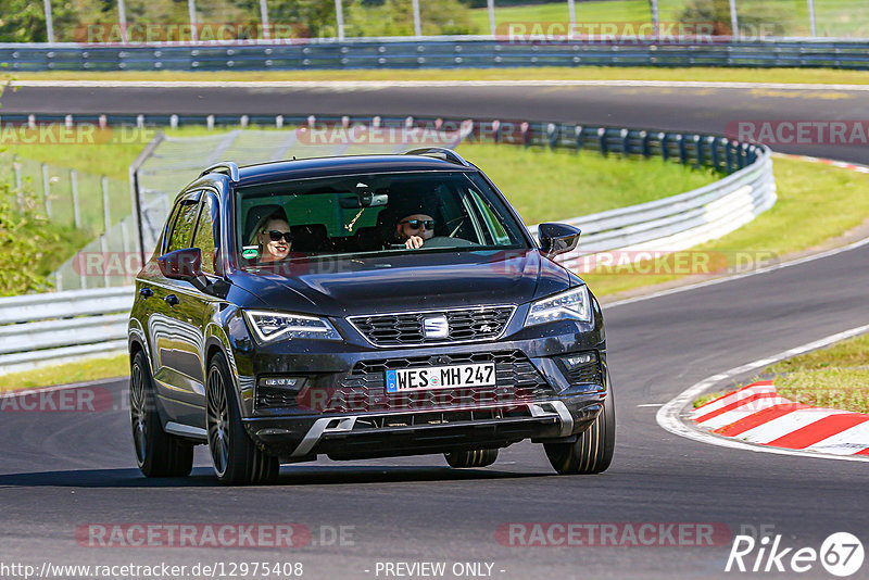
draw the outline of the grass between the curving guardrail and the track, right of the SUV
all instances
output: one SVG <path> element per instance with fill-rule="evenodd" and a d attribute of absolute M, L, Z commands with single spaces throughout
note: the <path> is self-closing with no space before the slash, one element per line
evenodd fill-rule
<path fill-rule="evenodd" d="M 710 266 L 722 268 L 734 266 L 740 256 L 774 262 L 839 237 L 869 218 L 869 176 L 865 174 L 784 157 L 774 160 L 774 173 L 778 201 L 771 210 L 722 238 L 676 255 L 708 260 Z M 667 257 L 667 264 L 673 260 Z M 716 274 L 715 267 L 708 269 Z M 684 278 L 645 274 L 640 267 L 601 268 L 582 277 L 597 295 Z"/>

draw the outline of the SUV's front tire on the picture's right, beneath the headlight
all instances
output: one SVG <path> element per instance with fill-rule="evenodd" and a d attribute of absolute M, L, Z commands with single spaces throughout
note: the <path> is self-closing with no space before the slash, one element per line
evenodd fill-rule
<path fill-rule="evenodd" d="M 609 375 L 604 408 L 575 443 L 544 443 L 552 467 L 561 475 L 601 474 L 613 463 L 616 449 L 616 405 Z"/>

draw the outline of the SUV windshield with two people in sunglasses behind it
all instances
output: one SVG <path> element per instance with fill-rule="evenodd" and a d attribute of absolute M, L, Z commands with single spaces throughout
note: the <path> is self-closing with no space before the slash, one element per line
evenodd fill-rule
<path fill-rule="evenodd" d="M 521 225 L 479 174 L 341 175 L 239 188 L 242 267 L 377 253 L 525 249 Z"/>

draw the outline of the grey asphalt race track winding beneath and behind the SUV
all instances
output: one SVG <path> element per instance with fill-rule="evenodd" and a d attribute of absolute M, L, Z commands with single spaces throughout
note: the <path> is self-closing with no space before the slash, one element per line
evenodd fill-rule
<path fill-rule="evenodd" d="M 2 104 L 4 113 L 443 114 L 722 133 L 733 119 L 865 118 L 869 92 L 22 88 Z M 779 149 L 869 162 L 866 147 Z M 440 560 L 448 569 L 492 563 L 491 575 L 504 579 L 706 578 L 745 576 L 723 571 L 729 539 L 713 547 L 520 547 L 503 545 L 495 531 L 505 522 L 716 522 L 733 534 L 766 527 L 795 549 L 817 550 L 837 531 L 866 543 L 865 463 L 681 439 L 657 426 L 658 407 L 638 405 L 663 404 L 709 375 L 869 323 L 867 286 L 869 245 L 606 307 L 618 436 L 613 466 L 600 476 L 556 477 L 542 447 L 522 443 L 487 469 L 451 470 L 441 456 L 322 459 L 285 467 L 276 487 L 227 489 L 211 476 L 203 447 L 189 479 L 140 477 L 124 381 L 108 387 L 111 411 L 2 413 L 0 562 L 301 562 L 305 577 L 319 579 L 383 578 L 375 573 L 378 562 Z M 297 522 L 312 530 L 313 542 L 282 551 L 80 545 L 76 529 L 93 522 Z M 339 526 L 352 527 L 344 545 L 328 541 Z M 819 564 L 801 576 L 829 577 Z"/>

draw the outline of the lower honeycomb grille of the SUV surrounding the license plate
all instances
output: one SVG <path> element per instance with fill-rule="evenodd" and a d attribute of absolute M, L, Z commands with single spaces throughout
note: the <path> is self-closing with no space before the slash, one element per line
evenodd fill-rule
<path fill-rule="evenodd" d="M 443 366 L 468 363 L 494 363 L 494 387 L 432 389 L 386 392 L 386 371 L 393 368 Z M 480 406 L 512 407 L 553 393 L 552 388 L 520 351 L 493 353 L 426 355 L 356 363 L 339 387 L 328 396 L 311 396 L 326 401 L 324 413 L 365 413 L 370 411 L 439 409 Z"/>

